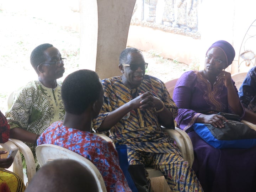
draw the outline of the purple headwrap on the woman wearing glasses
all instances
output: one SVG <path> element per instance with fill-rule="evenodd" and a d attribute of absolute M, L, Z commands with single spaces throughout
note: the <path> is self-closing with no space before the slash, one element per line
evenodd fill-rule
<path fill-rule="evenodd" d="M 218 47 L 225 53 L 226 56 L 226 65 L 224 66 L 224 69 L 227 68 L 234 60 L 235 58 L 235 49 L 231 46 L 229 42 L 226 42 L 224 40 L 216 41 L 215 43 L 210 46 L 210 48 L 207 50 L 206 55 L 210 49 L 213 47 Z"/>

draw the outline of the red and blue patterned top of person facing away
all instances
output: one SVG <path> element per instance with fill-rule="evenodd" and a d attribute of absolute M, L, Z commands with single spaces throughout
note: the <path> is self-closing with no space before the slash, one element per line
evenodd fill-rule
<path fill-rule="evenodd" d="M 65 127 L 62 123 L 52 123 L 38 138 L 37 145 L 54 144 L 72 150 L 98 168 L 108 192 L 131 192 L 112 143 L 96 134 Z"/>

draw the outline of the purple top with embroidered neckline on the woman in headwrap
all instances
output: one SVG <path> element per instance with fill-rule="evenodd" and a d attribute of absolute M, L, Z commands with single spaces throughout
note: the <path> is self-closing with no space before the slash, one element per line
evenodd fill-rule
<path fill-rule="evenodd" d="M 235 87 L 234 81 L 233 84 Z M 238 92 L 236 87 L 235 90 Z M 214 82 L 212 87 L 199 71 L 187 71 L 181 75 L 172 99 L 178 107 L 178 116 L 175 120 L 182 130 L 187 130 L 196 122 L 201 114 L 199 111 L 234 114 L 228 105 L 228 91 L 223 81 Z"/>

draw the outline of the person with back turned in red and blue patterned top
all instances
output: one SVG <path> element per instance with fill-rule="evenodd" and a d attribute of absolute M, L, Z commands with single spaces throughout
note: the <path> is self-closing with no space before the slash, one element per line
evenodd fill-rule
<path fill-rule="evenodd" d="M 59 145 L 84 156 L 98 168 L 108 192 L 130 192 L 113 144 L 91 133 L 91 121 L 100 112 L 103 92 L 94 71 L 84 69 L 69 74 L 61 90 L 64 121 L 51 124 L 37 144 Z"/>

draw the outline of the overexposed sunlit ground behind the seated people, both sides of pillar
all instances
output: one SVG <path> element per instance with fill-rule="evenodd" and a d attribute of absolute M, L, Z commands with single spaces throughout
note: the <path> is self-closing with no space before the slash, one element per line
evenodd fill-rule
<path fill-rule="evenodd" d="M 0 110 L 7 110 L 9 94 L 37 79 L 30 64 L 31 51 L 42 43 L 53 44 L 60 50 L 65 60 L 65 74 L 61 80 L 79 68 L 79 32 L 63 28 L 60 23 L 45 21 L 22 11 L 0 9 Z M 80 53 L 81 54 L 81 53 Z M 194 66 L 163 58 L 156 50 L 143 52 L 149 63 L 146 74 L 156 76 L 166 82 L 179 77 Z"/>

